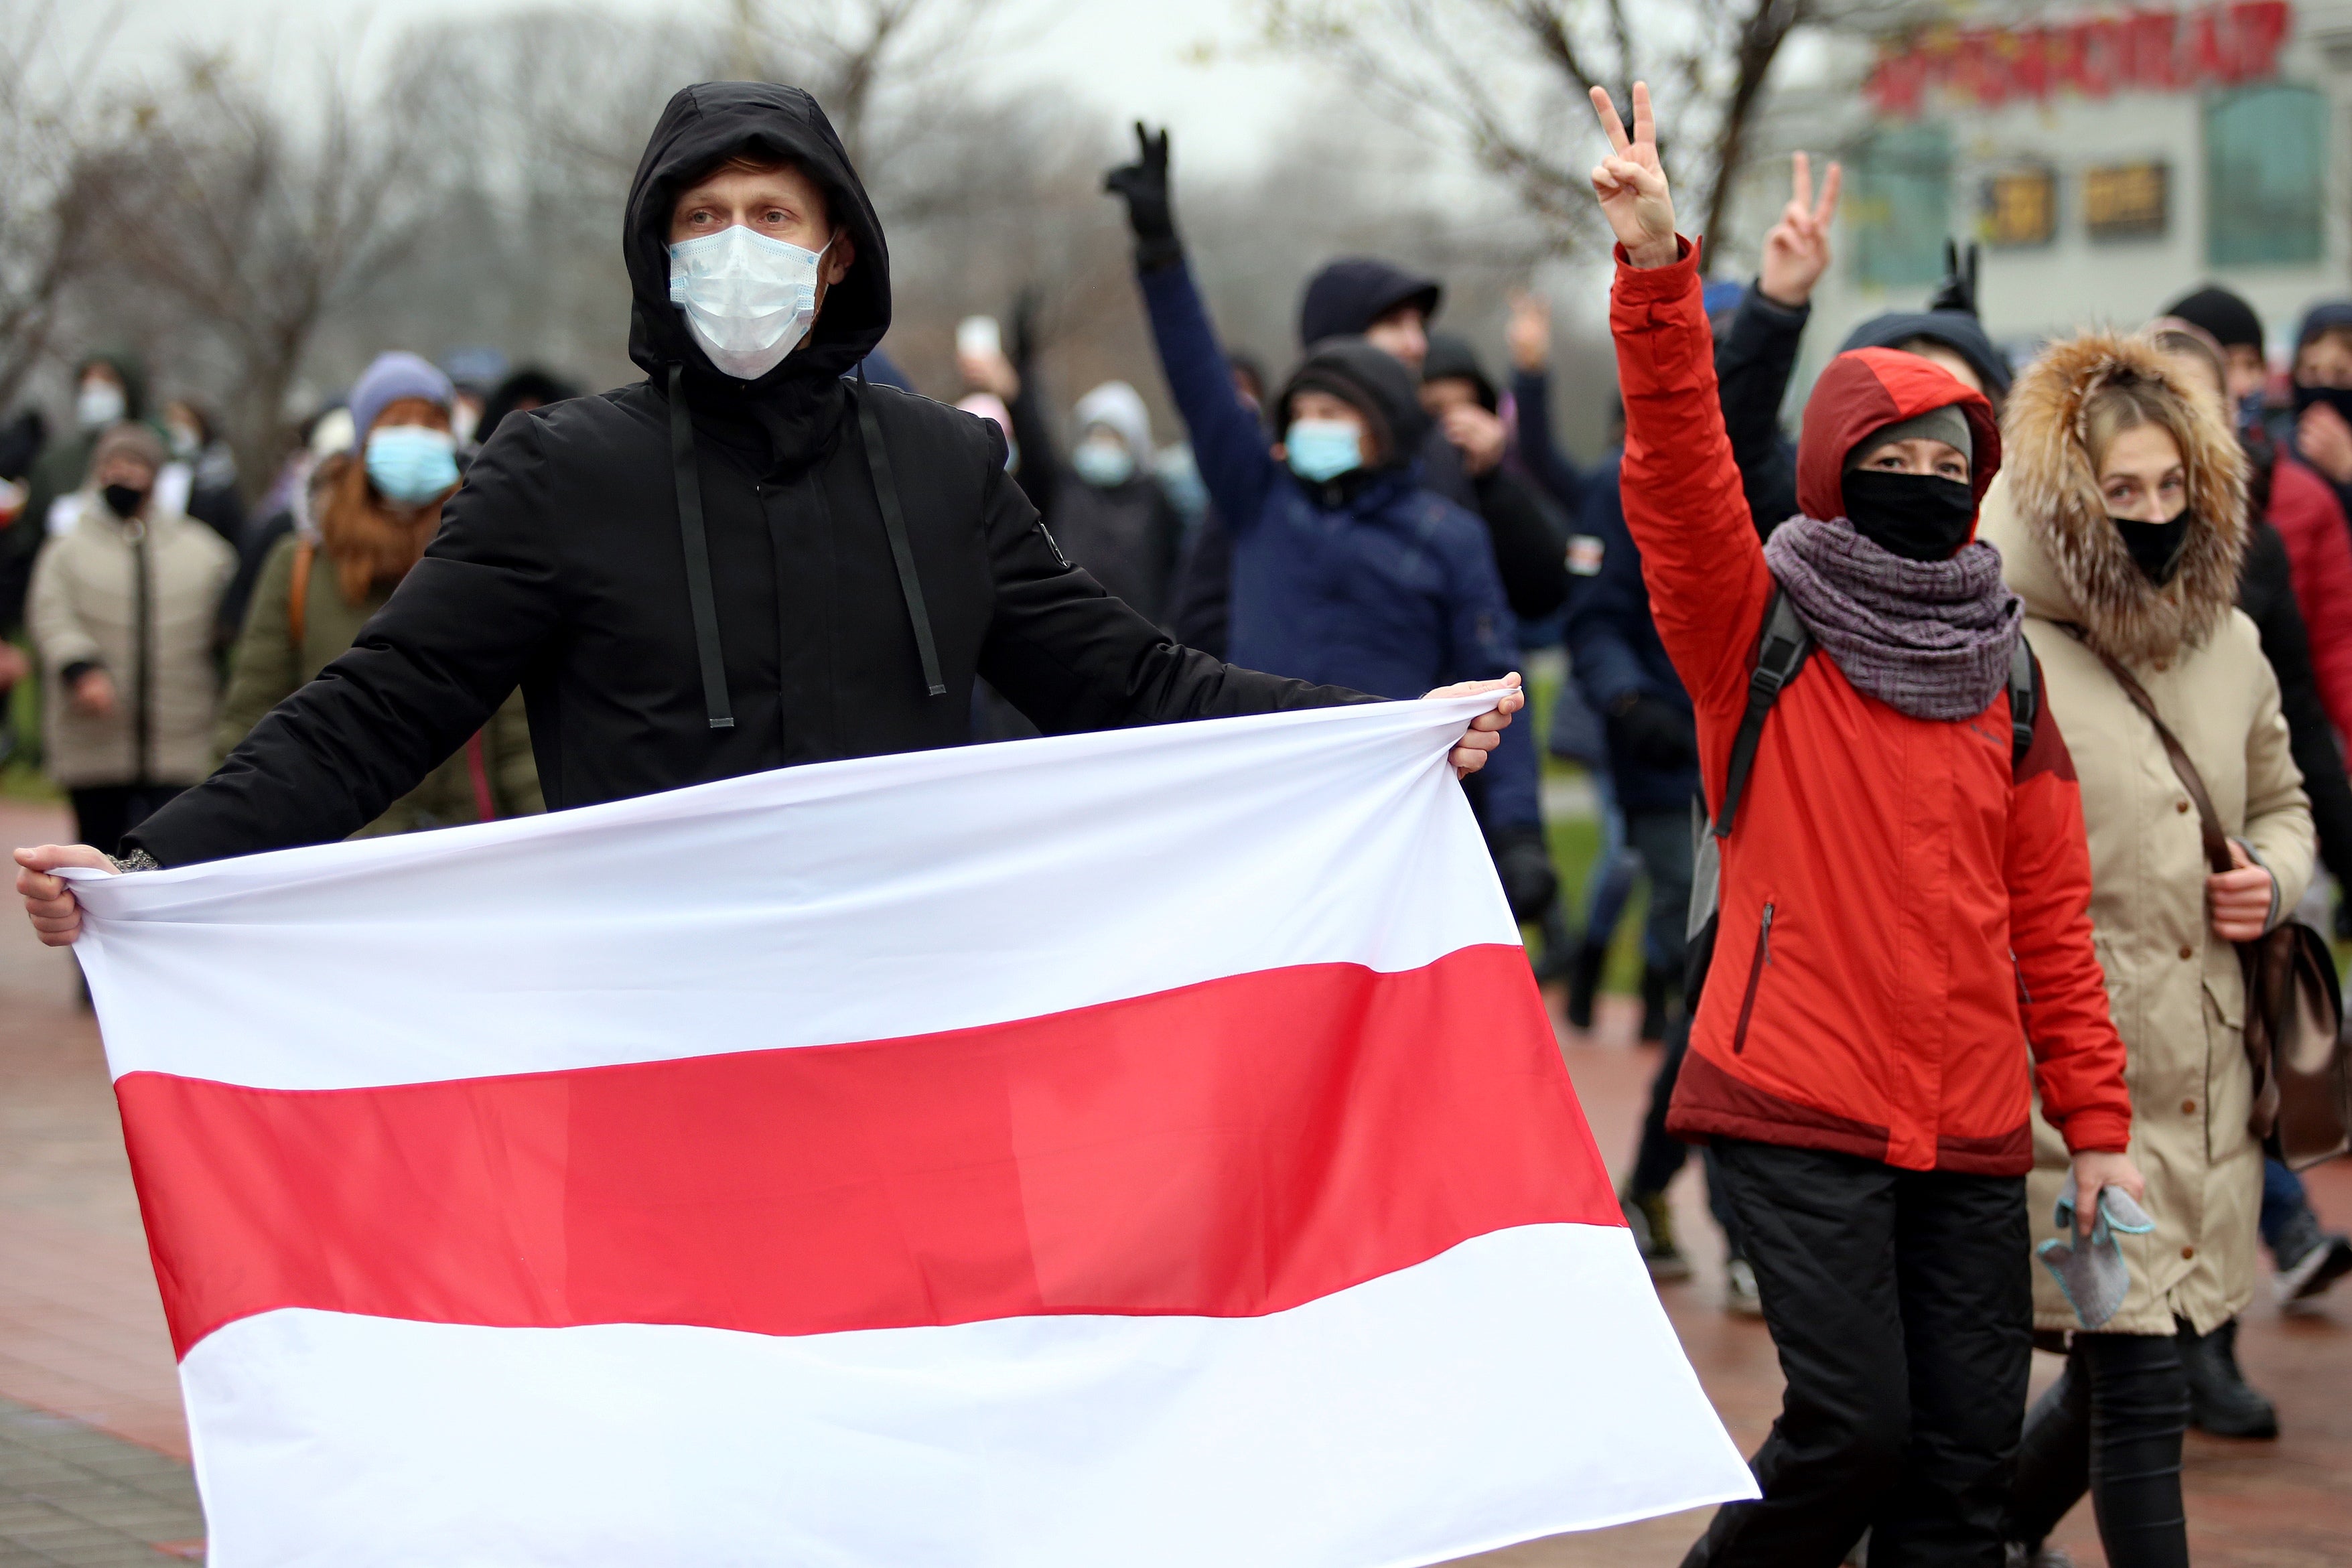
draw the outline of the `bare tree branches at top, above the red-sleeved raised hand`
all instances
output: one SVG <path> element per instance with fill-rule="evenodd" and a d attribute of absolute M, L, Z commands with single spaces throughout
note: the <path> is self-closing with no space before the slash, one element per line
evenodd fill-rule
<path fill-rule="evenodd" d="M 1658 150 L 1726 237 L 1773 63 L 1806 26 L 1867 28 L 1905 0 L 1261 0 L 1268 35 L 1451 127 L 1559 235 L 1599 237 L 1592 87 L 1658 89 Z M 1915 9 L 1915 7 L 1912 7 Z"/>

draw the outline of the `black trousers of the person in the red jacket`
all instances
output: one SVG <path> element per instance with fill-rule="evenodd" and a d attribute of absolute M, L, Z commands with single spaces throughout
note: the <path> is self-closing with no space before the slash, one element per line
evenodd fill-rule
<path fill-rule="evenodd" d="M 2025 1178 L 1715 1143 L 1788 1392 L 1684 1568 L 2002 1566 L 2032 1359 Z"/>

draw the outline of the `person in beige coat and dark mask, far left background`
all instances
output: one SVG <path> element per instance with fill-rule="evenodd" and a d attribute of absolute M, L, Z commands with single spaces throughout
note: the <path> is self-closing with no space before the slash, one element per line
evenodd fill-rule
<path fill-rule="evenodd" d="M 106 853 L 212 771 L 214 614 L 238 557 L 158 505 L 162 461 L 146 425 L 96 440 L 80 517 L 42 548 L 26 602 L 49 778 L 73 797 L 82 842 Z"/>

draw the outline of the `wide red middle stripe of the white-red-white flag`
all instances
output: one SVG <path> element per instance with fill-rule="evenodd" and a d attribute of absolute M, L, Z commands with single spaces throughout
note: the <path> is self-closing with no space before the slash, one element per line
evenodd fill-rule
<path fill-rule="evenodd" d="M 1494 1229 L 1621 1222 L 1498 945 L 873 1044 L 115 1088 L 183 1354 L 273 1307 L 750 1333 L 1251 1316 Z"/>

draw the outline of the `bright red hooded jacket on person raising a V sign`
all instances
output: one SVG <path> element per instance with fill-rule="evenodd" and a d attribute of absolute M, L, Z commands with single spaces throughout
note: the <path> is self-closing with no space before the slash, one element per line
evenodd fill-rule
<path fill-rule="evenodd" d="M 1649 270 L 1621 259 L 1611 327 L 1625 524 L 1715 806 L 1773 581 L 1724 435 L 1696 252 Z M 1917 355 L 1839 355 L 1804 409 L 1799 505 L 1842 517 L 1853 444 L 1955 402 L 1983 498 L 1999 468 L 1990 404 Z M 2023 1175 L 2039 1081 L 2067 1147 L 2126 1147 L 2124 1041 L 2089 905 L 2082 797 L 2046 705 L 2011 776 L 2006 691 L 1969 722 L 1912 719 L 1816 649 L 1764 724 L 1722 846 L 1715 966 L 1668 1128 Z"/>

